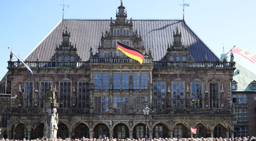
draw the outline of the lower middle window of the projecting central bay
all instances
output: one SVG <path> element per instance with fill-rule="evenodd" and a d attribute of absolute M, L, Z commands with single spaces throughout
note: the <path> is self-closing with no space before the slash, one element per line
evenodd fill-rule
<path fill-rule="evenodd" d="M 113 109 L 114 113 L 129 113 L 129 97 L 114 96 Z"/>

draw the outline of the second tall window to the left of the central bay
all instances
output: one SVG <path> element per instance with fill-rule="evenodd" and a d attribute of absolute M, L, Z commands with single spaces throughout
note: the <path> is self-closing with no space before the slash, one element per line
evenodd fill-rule
<path fill-rule="evenodd" d="M 60 82 L 59 107 L 70 107 L 71 103 L 71 82 Z"/>

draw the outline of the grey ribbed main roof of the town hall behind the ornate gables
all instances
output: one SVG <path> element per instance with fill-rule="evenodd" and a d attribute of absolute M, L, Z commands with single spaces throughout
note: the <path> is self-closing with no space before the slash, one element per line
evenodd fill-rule
<path fill-rule="evenodd" d="M 168 42 L 173 42 L 173 31 L 181 31 L 182 42 L 189 47 L 195 61 L 217 61 L 218 57 L 197 37 L 183 20 L 133 20 L 134 31 L 141 31 L 145 50 L 151 48 L 154 61 L 159 61 L 166 54 Z M 54 54 L 56 44 L 61 42 L 65 27 L 71 32 L 71 41 L 76 43 L 82 61 L 90 56 L 90 47 L 98 48 L 101 32 L 110 29 L 110 20 L 62 20 L 49 35 L 29 54 L 27 61 L 49 61 Z M 94 49 L 94 54 L 96 50 Z"/>

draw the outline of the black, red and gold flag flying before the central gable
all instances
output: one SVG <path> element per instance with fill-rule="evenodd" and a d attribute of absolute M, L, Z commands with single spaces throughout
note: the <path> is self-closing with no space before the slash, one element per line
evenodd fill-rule
<path fill-rule="evenodd" d="M 129 56 L 130 58 L 137 60 L 142 64 L 144 60 L 143 54 L 135 48 L 129 47 L 128 45 L 124 45 L 120 42 L 117 42 L 117 48 L 122 51 L 125 55 Z"/>

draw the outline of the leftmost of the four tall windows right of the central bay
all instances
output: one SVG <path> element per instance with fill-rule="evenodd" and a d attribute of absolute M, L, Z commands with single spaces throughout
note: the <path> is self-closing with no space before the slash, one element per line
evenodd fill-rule
<path fill-rule="evenodd" d="M 165 106 L 165 82 L 153 82 L 153 108 L 161 109 Z"/>

